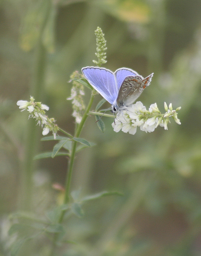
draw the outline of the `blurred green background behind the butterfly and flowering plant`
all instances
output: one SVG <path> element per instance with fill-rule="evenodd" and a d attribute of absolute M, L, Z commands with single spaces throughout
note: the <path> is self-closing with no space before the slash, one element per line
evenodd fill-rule
<path fill-rule="evenodd" d="M 113 120 L 106 117 L 102 133 L 94 116 L 88 118 L 81 137 L 96 146 L 77 155 L 72 190 L 115 190 L 123 196 L 88 202 L 85 215 L 68 223 L 68 240 L 76 243 L 58 255 L 201 255 L 200 14 L 199 0 L 0 1 L 0 256 L 10 255 L 7 217 L 18 209 L 31 122 L 16 102 L 33 96 L 73 133 L 68 81 L 74 70 L 93 66 L 97 26 L 107 40 L 105 68 L 127 67 L 143 77 L 154 72 L 139 100 L 147 108 L 156 102 L 161 112 L 164 101 L 173 109 L 181 106 L 181 125 L 172 121 L 167 131 L 138 129 L 133 136 L 113 132 Z M 86 89 L 86 103 L 89 97 Z M 37 131 L 37 153 L 50 151 L 54 144 L 40 142 L 42 130 Z M 43 215 L 58 202 L 61 195 L 52 184 L 64 186 L 66 168 L 64 157 L 35 163 L 34 212 Z M 20 255 L 48 255 L 45 238 L 32 247 Z"/>

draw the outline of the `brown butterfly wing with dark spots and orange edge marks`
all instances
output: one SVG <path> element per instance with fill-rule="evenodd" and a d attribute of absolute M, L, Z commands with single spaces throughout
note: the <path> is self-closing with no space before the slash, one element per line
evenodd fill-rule
<path fill-rule="evenodd" d="M 133 104 L 142 91 L 149 86 L 152 76 L 153 73 L 146 78 L 139 75 L 127 76 L 119 88 L 116 102 L 117 108 L 122 109 Z"/>

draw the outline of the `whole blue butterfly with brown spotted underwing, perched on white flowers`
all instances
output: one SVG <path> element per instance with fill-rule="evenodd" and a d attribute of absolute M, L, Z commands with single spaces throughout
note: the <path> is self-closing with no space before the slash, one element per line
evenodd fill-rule
<path fill-rule="evenodd" d="M 112 112 L 120 112 L 131 106 L 142 91 L 149 86 L 153 73 L 143 78 L 129 68 L 119 68 L 115 72 L 106 68 L 82 68 L 86 80 L 112 106 Z"/>

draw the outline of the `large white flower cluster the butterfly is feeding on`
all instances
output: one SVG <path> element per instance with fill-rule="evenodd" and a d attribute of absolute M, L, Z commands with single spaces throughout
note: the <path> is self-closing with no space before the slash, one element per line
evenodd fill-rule
<path fill-rule="evenodd" d="M 157 126 L 164 127 L 164 129 L 167 130 L 170 117 L 172 117 L 177 124 L 181 124 L 177 118 L 177 111 L 179 111 L 181 107 L 173 110 L 172 104 L 169 104 L 168 108 L 166 103 L 164 103 L 164 107 L 166 113 L 161 114 L 156 103 L 151 104 L 149 110 L 146 110 L 145 106 L 138 101 L 131 107 L 117 113 L 112 127 L 115 132 L 122 130 L 122 132 L 125 133 L 129 132 L 129 134 L 135 134 L 137 126 L 144 132 L 153 132 Z"/>

